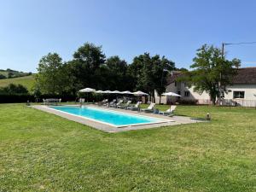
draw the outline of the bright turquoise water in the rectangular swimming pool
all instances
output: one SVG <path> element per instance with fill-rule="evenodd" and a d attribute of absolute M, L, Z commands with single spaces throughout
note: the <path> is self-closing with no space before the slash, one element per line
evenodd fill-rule
<path fill-rule="evenodd" d="M 91 107 L 51 107 L 66 113 L 76 114 L 85 118 L 102 121 L 115 126 L 137 125 L 162 122 L 160 119 L 148 118 L 146 116 L 137 116 L 127 113 L 118 113 L 102 108 Z"/>

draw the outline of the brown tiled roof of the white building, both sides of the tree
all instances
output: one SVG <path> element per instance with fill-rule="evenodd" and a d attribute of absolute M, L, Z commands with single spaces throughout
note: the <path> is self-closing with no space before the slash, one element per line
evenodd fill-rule
<path fill-rule="evenodd" d="M 173 71 L 167 77 L 167 84 L 172 84 L 178 77 L 183 75 L 180 71 Z M 232 84 L 256 84 L 256 67 L 239 68 Z"/>

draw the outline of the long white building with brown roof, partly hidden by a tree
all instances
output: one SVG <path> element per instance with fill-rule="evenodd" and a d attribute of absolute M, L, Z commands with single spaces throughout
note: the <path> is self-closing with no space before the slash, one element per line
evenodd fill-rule
<path fill-rule="evenodd" d="M 170 102 L 197 102 L 198 104 L 210 104 L 210 96 L 203 92 L 199 94 L 188 87 L 184 82 L 177 82 L 177 78 L 182 75 L 181 72 L 172 72 L 167 79 L 166 92 L 172 91 L 181 98 L 171 98 L 169 96 L 162 96 L 162 103 Z M 227 86 L 228 94 L 224 95 L 224 104 L 226 105 L 241 105 L 247 107 L 256 107 L 256 67 L 240 68 L 237 75 L 234 77 L 232 85 Z M 156 94 L 156 93 L 155 93 Z M 156 101 L 159 102 L 160 97 L 155 96 Z"/>

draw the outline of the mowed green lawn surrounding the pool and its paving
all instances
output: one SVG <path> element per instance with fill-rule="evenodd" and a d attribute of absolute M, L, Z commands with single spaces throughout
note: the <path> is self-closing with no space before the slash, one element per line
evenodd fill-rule
<path fill-rule="evenodd" d="M 208 123 L 113 134 L 2 104 L 0 191 L 256 191 L 256 110 L 177 107 L 207 112 Z"/>

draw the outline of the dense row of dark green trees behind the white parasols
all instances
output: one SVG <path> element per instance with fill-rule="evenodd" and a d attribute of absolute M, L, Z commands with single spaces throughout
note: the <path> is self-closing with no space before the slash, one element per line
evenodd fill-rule
<path fill-rule="evenodd" d="M 101 46 L 86 43 L 79 47 L 71 61 L 62 61 L 56 53 L 44 55 L 38 63 L 35 95 L 73 94 L 84 87 L 96 90 L 143 90 L 154 102 L 154 90 L 166 90 L 168 72 L 175 69 L 165 56 L 136 56 L 131 64 L 118 55 L 106 58 Z"/>

